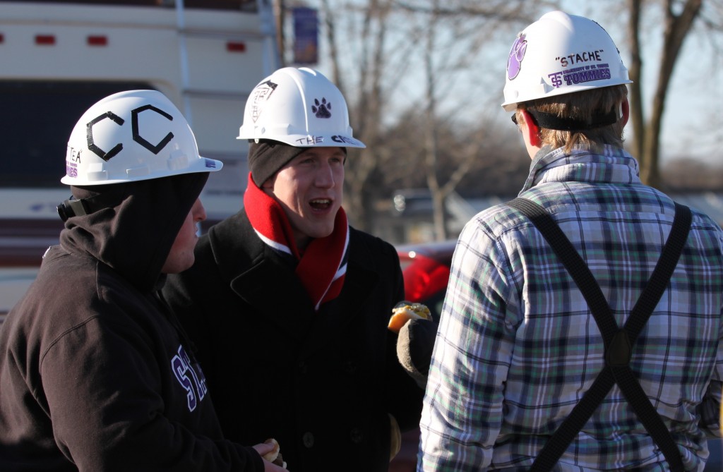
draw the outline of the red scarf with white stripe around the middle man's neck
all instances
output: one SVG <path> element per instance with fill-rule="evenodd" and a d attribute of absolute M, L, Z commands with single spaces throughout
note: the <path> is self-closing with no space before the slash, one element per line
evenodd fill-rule
<path fill-rule="evenodd" d="M 254 184 L 251 173 L 244 194 L 244 208 L 251 226 L 262 241 L 276 251 L 293 255 L 299 261 L 296 275 L 307 289 L 316 310 L 322 303 L 335 299 L 341 293 L 346 275 L 346 248 L 349 244 L 348 223 L 343 208 L 340 207 L 336 213 L 333 233 L 325 238 L 312 239 L 301 255 L 283 208 Z"/>

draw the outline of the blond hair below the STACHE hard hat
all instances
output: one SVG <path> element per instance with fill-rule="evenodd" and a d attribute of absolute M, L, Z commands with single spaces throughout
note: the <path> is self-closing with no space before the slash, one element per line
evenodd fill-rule
<path fill-rule="evenodd" d="M 620 116 L 620 107 L 628 96 L 625 85 L 613 85 L 576 93 L 566 93 L 548 98 L 537 98 L 518 103 L 518 110 L 538 110 L 551 113 L 558 118 L 586 121 L 593 115 L 603 115 L 615 111 Z M 518 120 L 521 119 L 519 113 Z M 623 120 L 614 124 L 594 129 L 562 131 L 559 129 L 540 128 L 542 145 L 565 147 L 570 152 L 573 147 L 589 150 L 600 150 L 603 145 L 623 147 Z"/>

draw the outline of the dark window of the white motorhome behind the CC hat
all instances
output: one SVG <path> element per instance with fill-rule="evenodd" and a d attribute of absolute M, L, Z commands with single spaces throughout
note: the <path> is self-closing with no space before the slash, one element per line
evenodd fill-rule
<path fill-rule="evenodd" d="M 142 82 L 0 81 L 1 187 L 57 187 L 73 126 L 111 93 L 150 89 Z"/>

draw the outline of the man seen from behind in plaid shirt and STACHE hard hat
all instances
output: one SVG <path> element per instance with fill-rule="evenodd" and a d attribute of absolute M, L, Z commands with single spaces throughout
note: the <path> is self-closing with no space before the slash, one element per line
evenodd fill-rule
<path fill-rule="evenodd" d="M 623 150 L 628 72 L 600 25 L 550 12 L 515 39 L 507 74 L 502 106 L 514 112 L 532 160 L 519 197 L 560 226 L 621 327 L 675 215 L 672 199 L 643 185 L 638 162 Z M 721 228 L 693 210 L 683 252 L 628 363 L 686 471 L 702 471 L 706 436 L 720 436 L 722 241 Z M 560 257 L 510 205 L 466 224 L 451 274 L 418 470 L 527 471 L 608 367 L 601 329 Z M 616 383 L 552 470 L 670 468 Z"/>

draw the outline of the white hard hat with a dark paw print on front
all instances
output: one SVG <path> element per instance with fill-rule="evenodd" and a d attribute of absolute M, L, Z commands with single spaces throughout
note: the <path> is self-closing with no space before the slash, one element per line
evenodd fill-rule
<path fill-rule="evenodd" d="M 239 140 L 274 140 L 294 147 L 366 147 L 349 126 L 346 100 L 320 72 L 284 67 L 254 87 Z"/>

